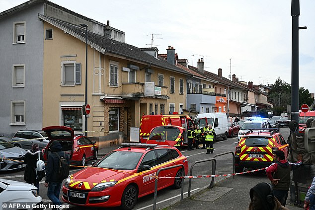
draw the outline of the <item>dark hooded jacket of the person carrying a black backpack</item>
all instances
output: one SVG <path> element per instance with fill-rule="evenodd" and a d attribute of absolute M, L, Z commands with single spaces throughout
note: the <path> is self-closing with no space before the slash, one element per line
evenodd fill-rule
<path fill-rule="evenodd" d="M 65 157 L 68 161 L 68 155 L 65 155 L 62 151 L 62 146 L 58 140 L 54 140 L 50 147 L 51 153 L 48 155 L 47 165 L 46 165 L 46 183 L 49 182 L 62 182 L 63 180 L 57 180 L 57 171 L 59 166 L 59 157 L 54 154 L 55 152 L 59 154 L 60 157 Z"/>

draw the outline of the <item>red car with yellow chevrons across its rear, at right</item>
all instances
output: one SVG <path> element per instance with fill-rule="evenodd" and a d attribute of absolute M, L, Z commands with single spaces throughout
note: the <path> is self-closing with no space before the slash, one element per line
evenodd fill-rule
<path fill-rule="evenodd" d="M 263 168 L 273 162 L 273 153 L 284 151 L 288 157 L 289 144 L 276 131 L 247 132 L 239 140 L 235 149 L 235 171 L 242 172 L 243 168 Z"/>

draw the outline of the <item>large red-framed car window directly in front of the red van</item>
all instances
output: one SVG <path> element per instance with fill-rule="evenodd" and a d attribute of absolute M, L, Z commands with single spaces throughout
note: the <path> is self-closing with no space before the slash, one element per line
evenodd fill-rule
<path fill-rule="evenodd" d="M 150 134 L 149 140 L 176 140 L 180 131 L 176 127 L 156 127 Z"/>

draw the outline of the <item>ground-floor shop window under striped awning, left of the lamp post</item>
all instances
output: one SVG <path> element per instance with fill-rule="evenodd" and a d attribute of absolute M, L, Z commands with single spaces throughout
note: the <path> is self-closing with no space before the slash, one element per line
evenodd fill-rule
<path fill-rule="evenodd" d="M 82 111 L 81 108 L 61 108 L 64 116 L 64 126 L 72 128 L 74 131 L 82 132 Z"/>

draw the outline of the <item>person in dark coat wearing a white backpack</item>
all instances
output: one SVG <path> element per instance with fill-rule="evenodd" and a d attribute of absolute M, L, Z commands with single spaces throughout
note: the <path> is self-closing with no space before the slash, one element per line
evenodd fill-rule
<path fill-rule="evenodd" d="M 38 157 L 39 154 L 39 157 Z M 27 153 L 24 157 L 24 163 L 26 163 L 24 171 L 24 180 L 31 185 L 37 187 L 37 193 L 39 193 L 39 182 L 45 176 L 45 170 L 37 171 L 36 162 L 40 158 L 44 161 L 42 152 L 39 150 L 38 143 L 33 143 L 31 150 L 27 150 Z"/>

